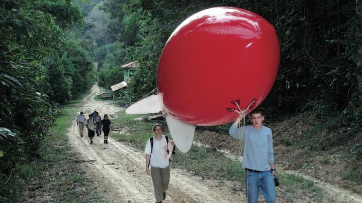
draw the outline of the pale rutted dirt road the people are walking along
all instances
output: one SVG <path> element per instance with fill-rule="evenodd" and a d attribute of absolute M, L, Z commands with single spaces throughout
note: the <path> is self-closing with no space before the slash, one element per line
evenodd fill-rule
<path fill-rule="evenodd" d="M 94 101 L 98 86 L 92 94 L 84 98 L 79 110 L 85 114 L 97 109 L 101 115 L 121 110 L 112 103 Z M 86 135 L 86 130 L 84 130 Z M 89 144 L 87 136 L 80 137 L 74 120 L 68 131 L 69 145 L 79 154 L 79 161 L 86 168 L 88 178 L 99 187 L 105 201 L 110 202 L 154 202 L 151 177 L 145 173 L 143 151 L 124 145 L 109 138 L 103 144 L 103 137 L 95 137 Z M 170 185 L 164 202 L 242 202 L 244 196 L 231 192 L 229 187 L 220 186 L 216 181 L 202 180 L 179 169 L 171 170 Z"/>

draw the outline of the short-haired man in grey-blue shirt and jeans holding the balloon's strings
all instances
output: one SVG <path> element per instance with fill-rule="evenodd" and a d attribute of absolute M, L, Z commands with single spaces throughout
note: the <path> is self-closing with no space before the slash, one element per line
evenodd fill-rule
<path fill-rule="evenodd" d="M 273 177 L 276 168 L 272 130 L 263 126 L 264 114 L 259 109 L 251 111 L 252 125 L 239 128 L 245 112 L 240 112 L 241 116 L 232 124 L 229 134 L 244 142 L 242 168 L 245 168 L 246 198 L 249 203 L 256 203 L 261 189 L 265 201 L 274 203 L 277 194 Z"/>

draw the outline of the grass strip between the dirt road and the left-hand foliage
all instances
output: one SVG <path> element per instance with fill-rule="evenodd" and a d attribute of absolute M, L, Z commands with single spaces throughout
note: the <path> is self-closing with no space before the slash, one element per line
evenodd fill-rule
<path fill-rule="evenodd" d="M 80 101 L 78 99 L 77 101 Z M 74 102 L 71 102 L 74 103 Z M 99 191 L 91 188 L 66 141 L 70 119 L 76 116 L 76 106 L 60 110 L 55 125 L 38 150 L 38 156 L 18 164 L 9 187 L 13 188 L 5 201 L 91 202 L 100 201 Z M 44 198 L 44 199 L 43 199 Z"/>

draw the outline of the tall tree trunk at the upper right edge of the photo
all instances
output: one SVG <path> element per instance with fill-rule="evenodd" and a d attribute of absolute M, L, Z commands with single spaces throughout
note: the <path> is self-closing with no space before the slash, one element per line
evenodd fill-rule
<path fill-rule="evenodd" d="M 359 101 L 362 103 L 362 0 L 356 0 L 356 15 L 357 15 L 357 29 L 356 29 L 356 42 L 357 42 L 357 78 Z"/>

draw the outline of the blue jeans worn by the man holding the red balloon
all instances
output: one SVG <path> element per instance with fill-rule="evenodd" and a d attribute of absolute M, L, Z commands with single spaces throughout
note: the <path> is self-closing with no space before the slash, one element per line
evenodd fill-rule
<path fill-rule="evenodd" d="M 274 177 L 269 170 L 262 172 L 245 171 L 245 187 L 248 203 L 257 203 L 259 188 L 267 203 L 274 203 L 277 197 Z"/>

